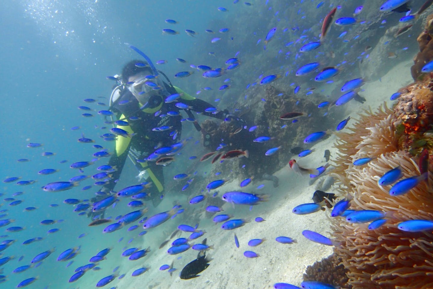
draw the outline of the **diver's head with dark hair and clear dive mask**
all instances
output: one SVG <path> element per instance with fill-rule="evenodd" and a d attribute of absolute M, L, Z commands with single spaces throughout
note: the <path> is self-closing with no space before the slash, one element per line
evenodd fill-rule
<path fill-rule="evenodd" d="M 132 60 L 123 67 L 122 80 L 141 104 L 155 98 L 152 96 L 157 96 L 162 87 L 152 68 L 140 60 Z"/>

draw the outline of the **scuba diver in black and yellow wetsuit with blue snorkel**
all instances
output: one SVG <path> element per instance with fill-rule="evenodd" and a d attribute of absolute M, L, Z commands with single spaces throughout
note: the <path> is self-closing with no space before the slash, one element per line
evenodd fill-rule
<path fill-rule="evenodd" d="M 243 127 L 244 121 L 229 114 L 228 110 L 213 113 L 205 111 L 213 105 L 173 86 L 167 76 L 157 71 L 149 58 L 145 58 L 147 61 L 128 62 L 123 67 L 122 75 L 112 78 L 118 85 L 111 94 L 110 111 L 117 117 L 117 121 L 114 122 L 116 128 L 128 134 L 117 136 L 114 153 L 108 162 L 115 171 L 111 172 L 111 179 L 103 185 L 97 197 L 91 199 L 92 202 L 100 201 L 112 192 L 129 156 L 140 171 L 139 177 L 152 183 L 150 188 L 145 190 L 148 193 L 147 199 L 152 200 L 154 207 L 159 205 L 164 191 L 163 166 L 158 165 L 157 159 L 151 157 L 155 156 L 152 153 L 158 148 L 182 143 L 181 110 L 187 113 L 187 120 L 194 122 L 199 131 L 202 131 L 201 127 L 191 110 L 220 120 L 233 121 Z M 161 79 L 158 72 L 165 76 L 167 82 Z M 174 101 L 170 102 L 168 97 L 174 98 Z M 97 215 L 103 218 L 104 212 L 90 212 L 90 215 L 92 218 Z"/>

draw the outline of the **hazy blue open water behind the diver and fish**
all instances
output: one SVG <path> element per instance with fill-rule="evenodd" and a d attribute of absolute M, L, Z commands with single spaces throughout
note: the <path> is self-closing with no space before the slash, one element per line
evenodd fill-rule
<path fill-rule="evenodd" d="M 350 33 L 350 37 L 346 37 L 349 44 L 332 40 L 337 39 L 343 31 L 350 32 L 350 29 L 355 29 L 352 28 L 355 26 L 341 28 L 334 24 L 327 36 L 329 42 L 322 45 L 324 47 L 317 49 L 317 52 L 310 52 L 309 56 L 302 55 L 298 50 L 308 41 L 318 41 L 323 17 L 333 7 L 342 6 L 341 11 L 337 12 L 339 17 L 344 16 L 343 14 L 351 16 L 355 7 L 364 1 L 324 1 L 324 5 L 318 8 L 316 6 L 320 1 L 317 0 L 292 1 L 294 3 L 251 0 L 252 6 L 244 2 L 234 4 L 233 0 L 16 0 L 2 4 L 0 10 L 2 23 L 0 74 L 3 85 L 0 108 L 2 116 L 0 176 L 3 179 L 20 176 L 21 180 L 36 180 L 36 182 L 27 186 L 2 183 L 2 199 L 12 197 L 16 192 L 24 193 L 14 197 L 23 200 L 23 203 L 16 207 L 8 206 L 6 201 L 0 202 L 0 210 L 7 210 L 4 213 L 8 214 L 3 218 L 15 219 L 13 224 L 0 228 L 0 235 L 8 235 L 1 237 L 0 242 L 6 239 L 16 240 L 14 244 L 0 253 L 0 258 L 15 256 L 14 260 L 5 266 L 0 266 L 3 268 L 3 275 L 7 275 L 8 279 L 0 285 L 1 288 L 14 288 L 24 279 L 36 276 L 39 279 L 29 285 L 29 288 L 75 288 L 74 284 L 68 283 L 73 270 L 87 264 L 90 257 L 106 247 L 113 248 L 109 255 L 110 260 L 105 261 L 110 265 L 102 262 L 99 266 L 101 268 L 105 266 L 103 273 L 90 271 L 86 274 L 96 274 L 97 277 L 92 277 L 92 280 L 110 275 L 110 270 L 124 262 L 124 259 L 120 257 L 123 247 L 132 247 L 128 246 L 127 241 L 138 238 L 138 233 L 143 231 L 140 225 L 139 229 L 131 232 L 123 228 L 123 233 L 120 235 L 102 234 L 103 227 L 99 226 L 96 229 L 87 227 L 89 219 L 85 216 L 78 216 L 73 211 L 73 206 L 63 203 L 65 198 L 91 198 L 97 191 L 97 187 L 93 186 L 87 191 L 81 190 L 84 185 L 93 184 L 91 179 L 83 181 L 78 188 L 65 192 L 47 193 L 41 189 L 48 182 L 68 181 L 74 175 L 80 175 L 77 170 L 69 168 L 71 163 L 93 159 L 91 155 L 96 152 L 96 149 L 92 147 L 92 144 L 77 142 L 81 133 L 113 151 L 114 143 L 104 142 L 100 138 L 101 134 L 108 132 L 110 126 L 102 130 L 101 127 L 107 127 L 107 124 L 103 123 L 103 118 L 96 112 L 107 109 L 109 104 L 114 82 L 107 80 L 106 77 L 120 74 L 122 66 L 129 60 L 141 59 L 136 52 L 129 49 L 128 44 L 138 47 L 154 62 L 167 60 L 166 64 L 158 65 L 157 68 L 164 71 L 175 86 L 181 87 L 193 96 L 196 96 L 197 91 L 201 91 L 197 97 L 213 105 L 219 103 L 219 109 L 230 106 L 229 110 L 232 111 L 236 108 L 233 107 L 233 103 L 236 101 L 242 103 L 242 100 L 249 97 L 246 95 L 251 94 L 251 88 L 246 89 L 246 87 L 259 82 L 266 75 L 281 75 L 281 78 L 277 79 L 274 84 L 276 86 L 280 84 L 284 89 L 290 87 L 291 91 L 295 85 L 290 86 L 289 84 L 299 84 L 304 88 L 311 87 L 311 84 L 314 83 L 306 84 L 307 78 L 294 77 L 297 68 L 308 62 L 316 61 L 316 59 L 327 62 L 327 66 L 331 65 L 329 53 L 333 49 L 341 49 L 343 44 L 347 45 L 347 54 L 344 59 L 347 62 L 347 65 L 344 65 L 347 74 L 345 73 L 344 76 L 340 74 L 336 78 L 346 81 L 360 77 L 357 73 L 357 65 L 360 59 L 366 59 L 365 55 L 361 54 L 366 46 L 365 42 L 357 42 L 356 34 L 351 35 Z M 217 9 L 218 7 L 226 7 L 228 11 L 221 12 Z M 366 15 L 361 14 L 361 16 Z M 378 11 L 374 15 L 373 17 L 377 18 L 374 19 L 375 22 L 381 17 L 388 19 L 387 27 L 398 23 L 399 17 L 395 15 L 385 17 L 379 15 Z M 335 17 L 334 20 L 337 18 Z M 178 23 L 168 24 L 165 23 L 165 19 L 175 19 Z M 364 20 L 373 21 L 373 19 Z M 278 29 L 265 50 L 263 47 L 265 37 L 272 27 L 278 27 Z M 165 35 L 162 29 L 166 28 L 177 30 L 179 34 Z M 218 32 L 223 28 L 230 30 L 227 33 Z M 188 36 L 184 32 L 185 29 L 194 30 L 198 34 L 194 37 Z M 215 33 L 208 34 L 204 31 L 205 29 L 212 29 Z M 412 36 L 414 40 L 414 36 L 410 33 L 404 37 Z M 211 39 L 215 37 L 220 37 L 221 40 L 211 43 Z M 257 44 L 259 39 L 261 41 Z M 332 47 L 326 47 L 326 45 Z M 415 45 L 410 49 L 402 50 L 404 47 L 405 44 L 400 43 L 393 51 L 399 51 L 401 58 L 412 57 Z M 214 55 L 209 55 L 209 52 L 214 52 Z M 224 68 L 224 62 L 236 55 L 241 61 L 240 68 L 227 71 L 220 78 L 205 79 L 201 76 L 202 72 L 190 67 L 190 65 L 209 65 L 213 68 Z M 180 63 L 176 61 L 176 58 L 183 58 L 187 62 Z M 337 65 L 342 60 L 343 57 L 337 55 L 332 64 Z M 179 71 L 195 72 L 188 78 L 174 78 L 174 74 Z M 225 84 L 224 81 L 228 78 L 230 78 L 227 82 L 231 85 L 230 89 L 219 91 L 218 88 Z M 329 84 L 331 87 L 326 87 L 327 84 L 323 83 L 317 85 L 320 85 L 320 88 L 316 92 L 322 90 L 330 94 L 334 88 L 332 86 L 334 84 Z M 203 88 L 207 86 L 212 87 L 213 90 L 203 91 Z M 398 88 L 393 88 L 394 91 L 390 91 L 389 96 Z M 305 93 L 306 91 L 303 91 L 300 97 L 309 97 L 305 96 Z M 260 98 L 260 96 L 257 97 Z M 94 98 L 107 106 L 86 104 L 83 101 L 85 98 Z M 220 101 L 215 102 L 218 99 Z M 81 114 L 84 111 L 77 108 L 80 105 L 94 109 L 95 111 L 91 112 L 94 117 L 82 117 Z M 199 117 L 199 120 L 204 119 L 204 117 Z M 249 124 L 249 126 L 252 125 L 254 124 Z M 75 126 L 81 128 L 71 130 L 71 127 Z M 193 161 L 188 162 L 189 156 L 195 155 L 200 158 L 204 152 L 200 144 L 200 134 L 195 131 L 191 123 L 184 123 L 182 137 L 188 136 L 193 137 L 193 140 L 188 143 L 187 150 L 183 152 L 184 155 L 179 156 L 183 162 L 167 168 L 166 180 L 171 181 L 172 175 L 185 172 L 187 169 L 199 175 L 206 175 L 210 170 L 209 166 Z M 42 143 L 43 146 L 32 149 L 26 147 L 28 143 Z M 56 154 L 46 157 L 41 156 L 42 152 Z M 21 158 L 30 159 L 30 161 L 17 162 L 17 159 Z M 60 163 L 62 160 L 66 162 Z M 96 165 L 102 165 L 106 161 L 107 159 L 100 159 Z M 52 175 L 37 174 L 39 170 L 46 168 L 59 169 L 59 172 Z M 85 174 L 96 173 L 95 168 L 84 169 Z M 224 173 L 226 172 L 220 175 L 221 179 L 226 177 Z M 128 162 L 116 190 L 137 184 L 135 178 L 137 174 L 137 170 Z M 158 209 L 151 208 L 151 211 L 157 213 L 169 210 L 172 202 L 180 201 L 184 202 L 182 205 L 186 205 L 185 198 L 177 198 L 175 194 L 168 197 L 170 201 L 163 203 L 164 206 Z M 126 202 L 122 200 L 116 208 L 109 208 L 107 215 L 116 217 L 127 213 L 128 210 L 131 211 L 125 205 Z M 58 206 L 50 206 L 52 204 Z M 24 208 L 30 206 L 37 209 L 31 212 L 24 211 Z M 248 214 L 248 210 L 246 209 L 244 213 Z M 184 215 L 187 216 L 187 211 Z M 184 222 L 188 221 L 187 217 L 183 218 Z M 44 219 L 64 221 L 53 225 L 39 224 Z M 170 221 L 172 220 L 168 222 Z M 25 227 L 25 230 L 16 233 L 6 232 L 6 228 L 10 226 L 22 226 Z M 61 230 L 47 234 L 47 231 L 52 228 Z M 160 234 L 161 232 L 155 230 L 148 234 Z M 78 236 L 83 233 L 87 235 L 78 239 Z M 121 236 L 124 237 L 124 240 L 119 243 L 118 239 Z M 22 245 L 24 240 L 33 237 L 43 237 L 44 240 Z M 231 238 L 229 246 L 233 246 Z M 133 242 L 132 244 L 138 246 L 139 243 Z M 58 255 L 68 248 L 78 246 L 81 246 L 81 253 L 73 259 L 74 263 L 68 268 L 65 267 L 68 262 L 60 263 L 59 266 L 59 262 L 56 261 Z M 38 268 L 31 268 L 20 274 L 12 273 L 16 267 L 29 264 L 38 253 L 52 248 L 55 248 L 55 252 Z M 157 248 L 152 248 L 152 250 L 157 250 Z M 24 256 L 23 260 L 18 261 L 21 256 Z M 131 267 L 124 266 L 124 269 L 121 267 L 120 274 L 126 273 Z M 158 268 L 154 267 L 152 270 L 158 270 Z M 177 277 L 178 272 L 174 273 L 174 276 Z M 84 283 L 83 280 L 86 277 L 84 276 L 77 282 L 80 283 L 80 288 L 93 288 L 95 284 Z M 125 278 L 131 277 L 126 276 Z M 112 284 L 115 286 L 116 282 L 113 281 L 107 285 L 107 288 L 110 288 Z"/>

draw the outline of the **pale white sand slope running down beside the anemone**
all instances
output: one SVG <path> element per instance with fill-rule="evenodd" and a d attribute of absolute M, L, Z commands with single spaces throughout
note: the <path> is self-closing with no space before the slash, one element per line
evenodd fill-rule
<path fill-rule="evenodd" d="M 391 106 L 391 101 L 389 101 L 391 94 L 411 82 L 410 70 L 407 64 L 407 62 L 398 64 L 381 79 L 381 82 L 375 81 L 365 84 L 363 86 L 365 91 L 360 94 L 367 99 L 367 102 L 359 104 L 351 101 L 346 105 L 346 116 L 351 115 L 352 118 L 357 118 L 356 114 L 361 111 L 361 108 L 371 107 L 375 111 L 383 101 L 387 101 Z M 327 140 L 317 143 L 314 146 L 316 152 L 303 158 L 300 163 L 305 167 L 323 165 L 323 151 L 325 149 L 330 149 L 331 155 L 335 156 L 336 149 L 332 148 L 334 141 L 335 137 L 331 136 Z M 296 159 L 298 158 L 296 157 Z M 135 261 L 136 263 L 133 263 L 134 268 L 127 273 L 124 270 L 131 267 L 132 263 L 128 260 L 123 261 L 120 271 L 126 273 L 126 276 L 119 281 L 118 288 L 254 289 L 271 288 L 277 282 L 292 283 L 299 286 L 306 267 L 333 252 L 333 247 L 313 243 L 304 238 L 301 232 L 308 229 L 329 237 L 329 222 L 326 219 L 326 213 L 323 211 L 309 215 L 296 215 L 291 212 L 296 205 L 312 202 L 311 197 L 316 188 L 315 184 L 308 185 L 308 176 L 300 177 L 292 172 L 288 166 L 275 173 L 275 175 L 280 180 L 279 187 L 274 189 L 271 182 L 265 181 L 262 182 L 265 184 L 265 188 L 259 191 L 260 193 L 272 195 L 268 203 L 254 206 L 252 211 L 249 211 L 246 206 L 236 206 L 236 209 L 233 209 L 230 204 L 224 205 L 225 211 L 223 213 L 234 214 L 235 218 L 251 218 L 251 223 L 233 231 L 223 231 L 220 229 L 220 224 L 216 226 L 210 220 L 200 221 L 199 229 L 207 231 L 204 237 L 207 237 L 208 244 L 215 246 L 215 249 L 209 252 L 213 256 L 213 260 L 210 262 L 210 266 L 200 274 L 200 277 L 190 280 L 179 278 L 181 269 L 197 256 L 196 251 L 190 249 L 177 256 L 170 256 L 166 253 L 169 244 L 165 245 L 163 249 L 157 250 L 158 244 L 161 243 L 163 237 L 152 242 L 152 240 L 149 240 L 152 237 L 151 232 L 149 232 L 149 237 L 146 238 L 145 236 L 146 244 L 144 246 L 147 247 L 148 244 L 151 244 L 152 254 L 142 258 L 142 261 Z M 247 187 L 249 190 L 246 191 L 250 191 L 260 183 L 253 182 Z M 238 189 L 239 180 L 233 181 L 220 188 L 220 196 L 223 192 Z M 332 192 L 332 189 L 328 192 Z M 202 206 L 204 209 L 204 205 Z M 256 223 L 254 218 L 259 216 L 265 218 L 266 221 Z M 162 226 L 171 228 L 178 222 L 177 219 L 169 220 L 168 223 L 172 224 L 168 225 L 166 223 Z M 239 249 L 234 244 L 234 233 L 239 238 Z M 187 236 L 187 233 L 181 234 L 181 237 Z M 292 237 L 297 239 L 298 242 L 291 245 L 280 244 L 275 241 L 275 237 L 278 236 Z M 263 237 L 266 237 L 267 240 L 258 247 L 249 247 L 247 245 L 249 240 Z M 203 237 L 198 240 L 202 239 Z M 243 256 L 245 250 L 255 251 L 260 257 L 248 259 Z M 175 260 L 179 256 L 182 258 Z M 166 271 L 158 270 L 161 265 L 170 264 L 172 260 L 175 260 L 174 267 L 178 269 L 173 273 L 172 277 Z M 142 276 L 130 277 L 132 271 L 140 266 L 151 266 L 151 270 Z"/>

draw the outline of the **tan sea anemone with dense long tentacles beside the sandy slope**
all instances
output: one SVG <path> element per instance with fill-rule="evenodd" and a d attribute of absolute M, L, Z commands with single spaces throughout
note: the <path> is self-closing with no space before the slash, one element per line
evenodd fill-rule
<path fill-rule="evenodd" d="M 348 223 L 342 217 L 331 220 L 333 237 L 340 243 L 334 252 L 343 260 L 354 289 L 433 288 L 433 234 L 397 228 L 402 221 L 433 220 L 428 182 L 400 196 L 391 196 L 390 186 L 381 187 L 377 182 L 397 166 L 401 166 L 404 178 L 420 174 L 413 156 L 398 149 L 393 125 L 397 118 L 386 106 L 375 114 L 365 111 L 350 129 L 352 133 L 338 135 L 340 154 L 333 172 L 340 184 L 337 190 L 354 197 L 350 209 L 390 212 L 385 225 L 376 230 L 368 230 L 368 224 Z M 367 156 L 376 158 L 365 166 L 352 164 Z M 431 175 L 429 179 L 431 184 Z"/>

